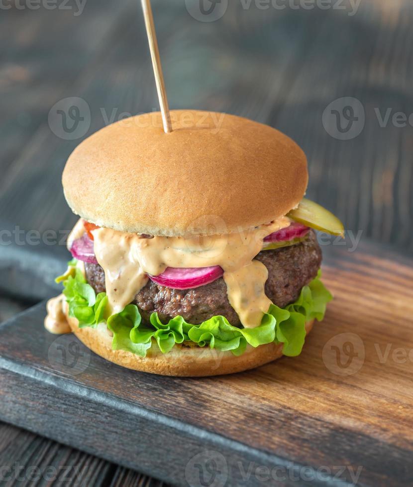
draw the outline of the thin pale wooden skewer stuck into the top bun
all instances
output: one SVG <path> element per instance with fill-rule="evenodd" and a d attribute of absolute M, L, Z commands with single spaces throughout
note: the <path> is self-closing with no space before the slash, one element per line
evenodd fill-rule
<path fill-rule="evenodd" d="M 166 96 L 165 81 L 162 73 L 161 59 L 159 56 L 158 41 L 156 39 L 155 24 L 150 0 L 141 0 L 143 16 L 145 18 L 146 33 L 148 34 L 149 49 L 151 52 L 153 72 L 155 75 L 156 89 L 158 91 L 159 104 L 161 106 L 162 123 L 166 134 L 172 132 L 171 115 L 169 113 L 168 98 Z"/>

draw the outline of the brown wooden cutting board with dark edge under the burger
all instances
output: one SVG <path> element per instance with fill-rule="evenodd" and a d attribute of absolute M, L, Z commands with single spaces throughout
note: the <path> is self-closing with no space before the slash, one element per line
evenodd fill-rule
<path fill-rule="evenodd" d="M 48 334 L 43 303 L 0 326 L 0 419 L 178 485 L 413 485 L 413 260 L 324 250 L 335 300 L 300 357 L 132 372 Z"/>

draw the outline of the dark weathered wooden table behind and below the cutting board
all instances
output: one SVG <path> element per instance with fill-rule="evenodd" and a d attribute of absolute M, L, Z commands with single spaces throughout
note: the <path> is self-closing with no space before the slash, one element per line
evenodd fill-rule
<path fill-rule="evenodd" d="M 344 10 L 322 10 L 316 2 L 313 9 L 283 10 L 229 3 L 222 18 L 201 22 L 183 1 L 153 1 L 171 107 L 226 111 L 286 132 L 309 158 L 310 198 L 339 215 L 353 235 L 361 231 L 363 238 L 412 254 L 413 129 L 404 115 L 413 111 L 413 4 L 362 0 L 354 12 L 349 2 Z M 81 14 L 70 5 L 14 6 L 0 16 L 0 230 L 24 231 L 23 244 L 13 237 L 11 245 L 0 246 L 0 263 L 12 255 L 14 266 L 0 267 L 7 276 L 0 283 L 0 317 L 52 292 L 24 284 L 13 268 L 27 268 L 40 247 L 50 255 L 64 252 L 59 245 L 29 245 L 26 237 L 30 230 L 42 236 L 69 230 L 75 222 L 60 185 L 70 152 L 125 112 L 158 106 L 138 2 L 88 0 Z M 80 138 L 63 134 L 69 140 L 56 135 L 62 135 L 56 111 L 67 97 L 86 103 L 76 100 L 86 106 L 85 125 Z M 356 101 L 343 104 L 342 97 Z M 346 106 L 359 116 L 347 132 Z M 344 110 L 341 135 L 328 118 L 334 109 Z M 402 115 L 394 118 L 397 112 Z M 39 282 L 47 273 L 35 261 L 30 270 Z M 10 293 L 12 301 L 5 297 Z M 159 485 L 1 424 L 0 465 L 15 462 L 76 467 L 77 475 L 69 482 L 60 476 L 56 485 Z"/>

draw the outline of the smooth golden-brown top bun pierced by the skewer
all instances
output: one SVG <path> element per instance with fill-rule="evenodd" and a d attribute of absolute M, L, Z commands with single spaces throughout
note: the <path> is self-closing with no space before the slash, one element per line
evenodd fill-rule
<path fill-rule="evenodd" d="M 83 141 L 63 187 L 73 212 L 100 227 L 162 235 L 248 230 L 295 208 L 307 160 L 289 137 L 246 118 L 171 111 L 126 118 Z"/>

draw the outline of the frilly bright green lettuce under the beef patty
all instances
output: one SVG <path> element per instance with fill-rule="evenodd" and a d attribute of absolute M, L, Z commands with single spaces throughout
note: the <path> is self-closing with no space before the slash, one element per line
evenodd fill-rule
<path fill-rule="evenodd" d="M 272 304 L 256 328 L 238 328 L 223 316 L 214 316 L 201 325 L 191 325 L 182 316 L 162 323 L 157 313 L 144 324 L 136 305 L 128 305 L 120 313 L 108 316 L 107 296 L 96 296 L 94 289 L 77 267 L 76 259 L 69 262 L 68 271 L 58 278 L 63 282 L 63 294 L 69 303 L 69 314 L 78 319 L 79 326 L 96 327 L 106 323 L 113 333 L 114 350 L 126 350 L 145 357 L 156 343 L 163 353 L 168 353 L 176 343 L 191 341 L 201 347 L 209 346 L 221 351 L 230 350 L 242 355 L 247 345 L 258 347 L 267 343 L 283 343 L 283 353 L 296 356 L 301 353 L 306 338 L 306 322 L 324 318 L 331 294 L 322 284 L 321 273 L 305 286 L 295 303 L 285 309 Z"/>

